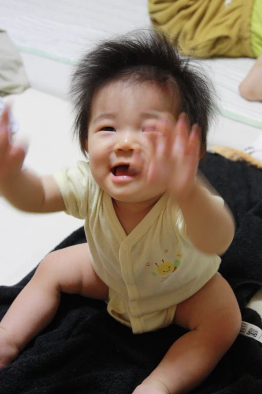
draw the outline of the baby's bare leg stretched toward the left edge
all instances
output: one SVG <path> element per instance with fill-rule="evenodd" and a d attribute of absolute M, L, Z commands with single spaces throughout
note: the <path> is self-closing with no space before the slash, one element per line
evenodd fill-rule
<path fill-rule="evenodd" d="M 96 275 L 87 244 L 47 255 L 0 323 L 0 369 L 54 318 L 61 292 L 106 299 L 108 287 Z"/>

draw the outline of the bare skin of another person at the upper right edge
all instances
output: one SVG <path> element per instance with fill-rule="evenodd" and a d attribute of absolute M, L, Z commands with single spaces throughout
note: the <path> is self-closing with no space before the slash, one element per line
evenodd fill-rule
<path fill-rule="evenodd" d="M 262 54 L 239 85 L 240 95 L 250 101 L 262 101 Z"/>

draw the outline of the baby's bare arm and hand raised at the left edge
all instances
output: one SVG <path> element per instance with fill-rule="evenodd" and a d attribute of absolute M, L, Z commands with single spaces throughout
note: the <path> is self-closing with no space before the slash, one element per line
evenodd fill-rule
<path fill-rule="evenodd" d="M 65 210 L 60 190 L 52 176 L 38 177 L 22 170 L 25 155 L 22 145 L 10 141 L 9 111 L 6 107 L 0 119 L 1 193 L 12 205 L 24 211 Z"/>

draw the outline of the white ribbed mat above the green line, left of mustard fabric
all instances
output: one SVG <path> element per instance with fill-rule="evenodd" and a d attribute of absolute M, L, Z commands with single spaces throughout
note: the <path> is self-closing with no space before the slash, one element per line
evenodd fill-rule
<path fill-rule="evenodd" d="M 105 37 L 150 25 L 145 0 L 1 0 L 0 5 L 0 26 L 22 51 L 67 63 Z"/>

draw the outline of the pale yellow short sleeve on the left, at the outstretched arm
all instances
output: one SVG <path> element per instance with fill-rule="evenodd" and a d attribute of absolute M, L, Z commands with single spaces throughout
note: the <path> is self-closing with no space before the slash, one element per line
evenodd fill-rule
<path fill-rule="evenodd" d="M 79 219 L 86 218 L 91 178 L 89 163 L 78 162 L 76 167 L 63 168 L 53 177 L 61 191 L 66 213 Z"/>

